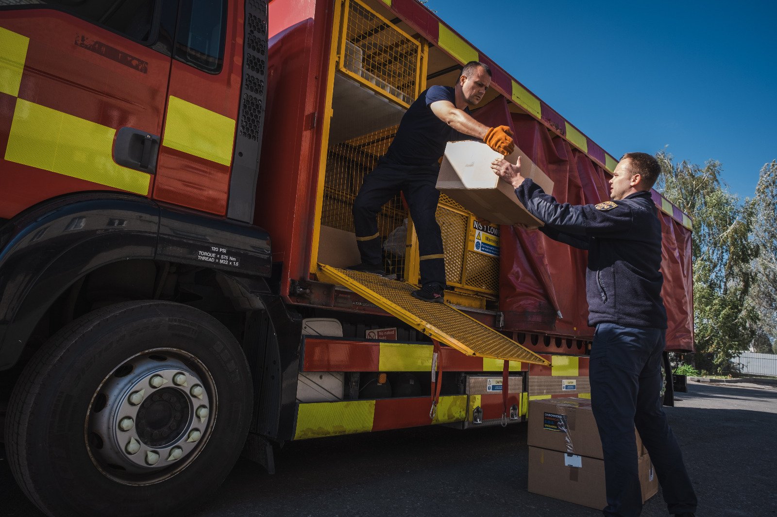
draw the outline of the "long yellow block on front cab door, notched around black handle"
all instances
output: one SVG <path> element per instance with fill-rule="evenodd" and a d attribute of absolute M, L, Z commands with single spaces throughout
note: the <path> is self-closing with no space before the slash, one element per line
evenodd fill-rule
<path fill-rule="evenodd" d="M 5 159 L 146 196 L 150 176 L 113 161 L 116 130 L 16 99 Z"/>

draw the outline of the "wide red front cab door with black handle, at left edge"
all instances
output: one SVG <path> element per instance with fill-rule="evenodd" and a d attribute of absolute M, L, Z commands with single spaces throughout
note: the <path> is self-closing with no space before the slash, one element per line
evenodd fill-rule
<path fill-rule="evenodd" d="M 150 196 L 176 5 L 0 5 L 0 217 L 78 191 Z"/>

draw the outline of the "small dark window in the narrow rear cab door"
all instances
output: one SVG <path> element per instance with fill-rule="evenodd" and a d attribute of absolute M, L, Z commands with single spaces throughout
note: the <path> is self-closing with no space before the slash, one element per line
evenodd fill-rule
<path fill-rule="evenodd" d="M 227 2 L 182 2 L 176 31 L 176 59 L 211 74 L 224 62 Z"/>

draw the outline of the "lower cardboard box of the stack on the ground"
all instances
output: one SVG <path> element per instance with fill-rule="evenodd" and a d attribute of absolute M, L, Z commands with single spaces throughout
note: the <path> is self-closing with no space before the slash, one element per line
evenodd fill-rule
<path fill-rule="evenodd" d="M 528 491 L 535 494 L 598 510 L 607 506 L 604 460 L 530 446 L 528 477 Z M 643 502 L 658 491 L 650 456 L 639 457 L 639 484 Z"/>

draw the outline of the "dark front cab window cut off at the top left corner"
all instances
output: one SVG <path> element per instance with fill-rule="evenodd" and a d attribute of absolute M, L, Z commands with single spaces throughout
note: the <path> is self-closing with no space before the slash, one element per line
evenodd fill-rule
<path fill-rule="evenodd" d="M 0 7 L 57 9 L 141 43 L 152 43 L 156 0 L 3 0 Z"/>

